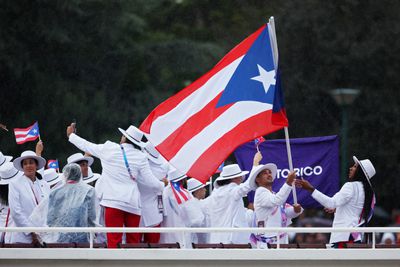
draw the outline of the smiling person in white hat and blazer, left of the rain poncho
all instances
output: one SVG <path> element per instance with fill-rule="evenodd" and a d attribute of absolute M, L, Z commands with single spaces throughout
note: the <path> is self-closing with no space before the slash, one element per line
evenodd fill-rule
<path fill-rule="evenodd" d="M 34 208 L 50 192 L 50 187 L 37 170 L 46 165 L 46 160 L 39 157 L 33 151 L 22 152 L 19 158 L 13 161 L 14 167 L 22 171 L 24 175 L 15 179 L 9 184 L 8 203 L 10 214 L 17 227 L 29 227 L 33 223 L 29 220 Z M 40 240 L 36 233 L 13 233 L 12 243 L 33 243 L 40 245 Z"/>

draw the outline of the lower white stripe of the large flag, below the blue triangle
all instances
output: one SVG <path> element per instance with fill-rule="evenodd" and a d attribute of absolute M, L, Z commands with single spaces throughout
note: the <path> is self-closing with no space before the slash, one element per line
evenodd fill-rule
<path fill-rule="evenodd" d="M 271 104 L 256 101 L 235 103 L 215 121 L 190 139 L 170 160 L 170 163 L 178 170 L 187 173 L 193 163 L 223 135 L 244 120 L 270 109 L 272 109 Z"/>

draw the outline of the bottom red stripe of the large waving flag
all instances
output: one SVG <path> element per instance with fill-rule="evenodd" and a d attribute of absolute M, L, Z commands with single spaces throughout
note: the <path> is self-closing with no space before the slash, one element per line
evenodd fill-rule
<path fill-rule="evenodd" d="M 226 155 L 231 154 L 238 145 L 244 144 L 250 140 L 254 140 L 255 137 L 266 135 L 268 133 L 277 131 L 283 128 L 285 125 L 272 125 L 266 129 L 265 125 L 271 121 L 271 117 L 280 113 L 272 113 L 272 110 L 268 110 L 249 119 L 241 122 L 231 131 L 222 136 L 212 146 L 210 146 L 191 166 L 187 175 L 189 177 L 196 177 L 200 182 L 205 183 L 208 181 L 213 171 L 219 166 L 219 163 L 224 161 Z M 279 122 L 287 122 L 286 118 L 275 118 Z M 287 124 L 286 124 L 287 125 Z M 251 128 L 252 132 L 246 134 L 248 129 Z"/>

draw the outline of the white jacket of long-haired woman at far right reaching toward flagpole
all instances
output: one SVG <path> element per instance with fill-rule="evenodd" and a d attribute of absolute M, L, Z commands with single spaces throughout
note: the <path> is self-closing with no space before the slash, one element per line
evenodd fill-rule
<path fill-rule="evenodd" d="M 339 192 L 333 197 L 328 197 L 318 190 L 314 190 L 311 195 L 325 208 L 335 209 L 333 228 L 337 227 L 356 227 L 359 224 L 361 211 L 364 206 L 364 186 L 361 182 L 347 182 Z M 355 240 L 360 240 L 361 237 Z M 349 232 L 331 233 L 330 243 L 348 241 Z"/>

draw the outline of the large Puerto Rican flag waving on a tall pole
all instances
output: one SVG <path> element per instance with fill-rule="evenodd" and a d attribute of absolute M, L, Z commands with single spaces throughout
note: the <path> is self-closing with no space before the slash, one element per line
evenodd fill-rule
<path fill-rule="evenodd" d="M 175 168 L 206 182 L 236 147 L 288 125 L 274 32 L 270 24 L 258 29 L 142 123 Z"/>

